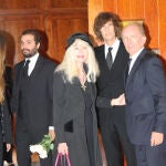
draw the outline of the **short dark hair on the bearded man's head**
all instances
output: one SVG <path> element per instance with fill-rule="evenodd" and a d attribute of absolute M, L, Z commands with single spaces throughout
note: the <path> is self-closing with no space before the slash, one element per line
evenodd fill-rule
<path fill-rule="evenodd" d="M 35 44 L 41 42 L 41 34 L 39 30 L 29 29 L 22 32 L 22 35 L 32 34 L 34 37 Z"/>

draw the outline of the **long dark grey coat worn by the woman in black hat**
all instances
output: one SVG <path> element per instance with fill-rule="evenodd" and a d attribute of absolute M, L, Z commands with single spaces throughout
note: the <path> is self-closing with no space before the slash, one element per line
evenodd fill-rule
<path fill-rule="evenodd" d="M 56 134 L 55 142 L 56 144 L 68 144 L 72 166 L 90 166 L 84 124 L 85 102 L 81 84 L 77 79 L 71 84 L 66 82 L 63 76 L 64 75 L 60 72 L 54 74 L 53 124 Z M 91 112 L 93 115 L 95 166 L 102 166 L 95 113 L 96 89 L 93 83 L 90 84 L 93 101 Z M 54 151 L 56 151 L 56 146 Z"/>

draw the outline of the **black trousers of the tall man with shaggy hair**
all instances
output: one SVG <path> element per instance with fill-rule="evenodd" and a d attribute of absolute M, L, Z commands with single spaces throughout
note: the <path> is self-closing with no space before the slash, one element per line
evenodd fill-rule
<path fill-rule="evenodd" d="M 125 107 L 98 110 L 98 124 L 107 166 L 136 166 L 134 146 L 126 134 Z"/>

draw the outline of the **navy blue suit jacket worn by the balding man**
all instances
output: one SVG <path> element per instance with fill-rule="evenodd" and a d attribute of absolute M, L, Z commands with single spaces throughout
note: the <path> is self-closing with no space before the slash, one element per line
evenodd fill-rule
<path fill-rule="evenodd" d="M 144 49 L 125 82 L 128 137 L 133 144 L 149 144 L 153 131 L 166 134 L 166 79 L 160 60 Z"/>

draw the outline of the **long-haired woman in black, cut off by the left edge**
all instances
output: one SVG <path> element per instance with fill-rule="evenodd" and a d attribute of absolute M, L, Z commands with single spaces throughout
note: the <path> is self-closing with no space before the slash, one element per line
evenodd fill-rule
<path fill-rule="evenodd" d="M 4 58 L 6 58 L 6 40 L 0 34 L 0 166 L 3 166 L 3 141 L 6 142 L 7 152 L 11 148 L 11 123 L 9 116 L 9 110 L 4 96 L 6 83 L 4 83 Z M 4 137 L 3 137 L 4 135 Z"/>

